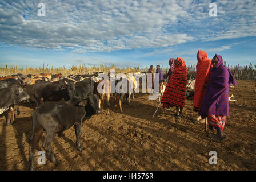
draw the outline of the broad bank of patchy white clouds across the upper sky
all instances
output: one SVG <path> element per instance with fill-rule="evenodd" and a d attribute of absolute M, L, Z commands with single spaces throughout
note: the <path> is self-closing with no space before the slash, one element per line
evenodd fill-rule
<path fill-rule="evenodd" d="M 37 16 L 39 2 L 46 17 Z M 216 3 L 210 18 L 206 0 L 0 0 L 0 41 L 85 53 L 256 36 L 255 1 Z"/>

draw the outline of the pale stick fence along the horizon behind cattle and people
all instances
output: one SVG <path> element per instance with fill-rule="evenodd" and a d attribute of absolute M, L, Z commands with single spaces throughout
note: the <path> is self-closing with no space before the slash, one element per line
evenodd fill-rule
<path fill-rule="evenodd" d="M 226 65 L 226 67 L 230 70 L 231 73 L 233 73 L 235 79 L 237 80 L 253 80 L 256 81 L 256 65 L 253 65 L 250 63 L 250 65 L 246 66 L 230 66 Z M 13 75 L 17 73 L 22 73 L 23 75 L 27 74 L 39 74 L 39 73 L 62 73 L 64 76 L 68 76 L 71 74 L 78 75 L 78 74 L 89 74 L 92 72 L 104 72 L 108 73 L 110 72 L 110 69 L 115 69 L 115 73 L 135 73 L 135 72 L 142 72 L 147 71 L 148 68 L 117 68 L 115 65 L 106 66 L 106 65 L 98 65 L 94 67 L 86 67 L 85 64 L 80 65 L 79 67 L 73 65 L 70 68 L 65 67 L 59 67 L 59 68 L 53 68 L 49 67 L 49 65 L 46 66 L 43 64 L 43 67 L 39 68 L 18 68 L 17 65 L 15 67 L 8 67 L 6 65 L 6 68 L 0 68 L 0 76 L 7 76 L 7 75 Z M 163 73 L 167 73 L 169 68 L 162 68 Z M 196 68 L 195 65 L 188 65 L 187 66 L 187 72 L 191 73 L 193 76 L 195 76 Z"/>

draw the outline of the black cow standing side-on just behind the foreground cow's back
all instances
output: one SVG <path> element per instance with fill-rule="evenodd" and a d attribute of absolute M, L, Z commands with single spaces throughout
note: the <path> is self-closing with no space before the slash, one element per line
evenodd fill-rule
<path fill-rule="evenodd" d="M 43 101 L 59 101 L 62 98 L 68 101 L 70 97 L 67 93 L 67 84 L 66 79 L 54 82 L 38 80 L 34 86 L 34 97 L 37 100 L 37 105 L 42 104 Z"/>

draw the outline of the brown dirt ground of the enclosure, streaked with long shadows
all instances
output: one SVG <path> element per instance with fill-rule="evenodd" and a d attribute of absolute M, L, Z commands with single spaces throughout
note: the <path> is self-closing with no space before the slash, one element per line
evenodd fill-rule
<path fill-rule="evenodd" d="M 75 147 L 74 127 L 65 137 L 51 144 L 59 161 L 55 166 L 46 159 L 36 170 L 255 170 L 256 169 L 256 95 L 254 81 L 238 81 L 231 88 L 237 102 L 230 102 L 225 133 L 228 139 L 216 143 L 206 137 L 205 126 L 193 122 L 197 117 L 193 101 L 186 100 L 185 119 L 175 119 L 162 108 L 151 117 L 159 104 L 148 94 L 136 94 L 131 105 L 123 105 L 125 114 L 94 115 L 81 130 L 83 151 Z M 29 169 L 29 138 L 33 104 L 22 105 L 14 125 L 5 126 L 0 118 L 0 170 Z M 118 107 L 119 112 L 119 107 Z M 106 113 L 106 110 L 103 110 Z M 41 150 L 45 134 L 39 141 Z M 217 165 L 209 164 L 209 152 L 217 152 Z"/>

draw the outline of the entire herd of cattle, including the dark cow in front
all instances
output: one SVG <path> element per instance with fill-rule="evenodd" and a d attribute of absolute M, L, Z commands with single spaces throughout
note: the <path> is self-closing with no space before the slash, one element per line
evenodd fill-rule
<path fill-rule="evenodd" d="M 54 139 L 55 133 L 61 137 L 62 132 L 75 126 L 78 150 L 81 149 L 79 142 L 81 124 L 84 119 L 90 118 L 94 114 L 102 113 L 101 108 L 106 100 L 107 114 L 110 110 L 110 80 L 109 92 L 98 93 L 98 84 L 103 81 L 98 76 L 103 72 L 94 72 L 89 75 L 69 75 L 59 74 L 39 75 L 11 75 L 0 77 L 0 117 L 5 116 L 6 125 L 12 125 L 14 118 L 19 115 L 18 104 L 21 102 L 35 103 L 36 109 L 33 111 L 33 132 L 30 138 L 29 154 L 30 169 L 33 168 L 33 158 L 35 148 L 43 131 L 46 131 L 46 138 L 43 144 L 47 155 L 53 163 L 57 163 L 51 152 L 50 143 Z M 145 74 L 145 73 L 141 73 Z M 127 77 L 127 80 L 129 77 Z M 191 77 L 188 77 L 188 86 L 193 88 Z M 166 82 L 159 84 L 159 99 L 166 88 Z M 129 82 L 127 82 L 129 84 Z M 135 78 L 131 80 L 134 90 L 138 84 Z M 115 81 L 115 85 L 118 81 Z M 103 85 L 103 84 L 102 84 Z M 104 90 L 104 85 L 102 89 Z M 191 94 L 189 93 L 188 96 Z M 117 99 L 119 96 L 119 99 Z M 123 98 L 130 104 L 131 93 L 115 93 L 115 110 L 117 102 L 121 113 Z M 57 102 L 64 100 L 64 102 Z M 70 114 L 72 113 L 72 114 Z"/>

